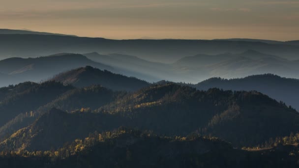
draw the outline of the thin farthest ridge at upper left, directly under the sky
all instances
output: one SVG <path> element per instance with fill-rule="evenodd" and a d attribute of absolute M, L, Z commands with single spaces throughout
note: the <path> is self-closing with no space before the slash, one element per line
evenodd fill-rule
<path fill-rule="evenodd" d="M 60 35 L 60 36 L 75 36 L 75 35 L 66 35 L 66 34 L 58 34 L 58 33 L 49 33 L 49 32 L 38 32 L 38 31 L 32 31 L 30 29 L 1 29 L 0 28 L 0 34 L 38 34 L 38 35 Z"/>

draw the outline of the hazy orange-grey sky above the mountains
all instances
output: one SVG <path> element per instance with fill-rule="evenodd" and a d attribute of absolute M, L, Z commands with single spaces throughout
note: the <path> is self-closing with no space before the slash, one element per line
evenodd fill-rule
<path fill-rule="evenodd" d="M 113 39 L 299 40 L 299 0 L 0 0 L 0 28 Z"/>

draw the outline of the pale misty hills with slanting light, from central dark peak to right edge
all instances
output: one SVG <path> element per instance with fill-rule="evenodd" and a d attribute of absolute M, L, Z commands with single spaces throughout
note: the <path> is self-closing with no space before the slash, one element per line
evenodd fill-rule
<path fill-rule="evenodd" d="M 272 73 L 289 78 L 299 78 L 297 61 L 247 50 L 239 54 L 225 53 L 220 55 L 187 56 L 174 63 L 159 63 L 127 55 L 85 54 L 96 62 L 118 67 L 127 71 L 137 71 L 148 76 L 155 76 L 157 82 L 198 83 L 211 77 L 242 78 L 252 74 Z M 152 81 L 148 77 L 138 78 Z"/>

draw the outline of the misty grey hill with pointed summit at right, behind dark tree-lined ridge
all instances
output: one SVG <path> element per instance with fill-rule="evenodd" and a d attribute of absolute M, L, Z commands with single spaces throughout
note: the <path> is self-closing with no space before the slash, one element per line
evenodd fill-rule
<path fill-rule="evenodd" d="M 198 78 L 199 81 L 211 77 L 230 79 L 268 73 L 288 78 L 299 78 L 298 65 L 296 61 L 252 50 L 240 54 L 188 56 L 174 63 L 174 66 L 178 67 L 176 70 L 180 71 L 181 74 L 193 77 L 193 79 Z"/>

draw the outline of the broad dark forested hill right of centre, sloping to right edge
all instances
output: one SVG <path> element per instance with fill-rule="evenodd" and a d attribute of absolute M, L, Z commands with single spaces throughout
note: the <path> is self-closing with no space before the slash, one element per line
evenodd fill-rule
<path fill-rule="evenodd" d="M 184 135 L 197 130 L 235 146 L 255 145 L 299 129 L 298 112 L 254 91 L 198 91 L 167 84 L 145 88 L 118 102 L 99 112 L 133 118 L 130 126 L 159 134 Z"/>

